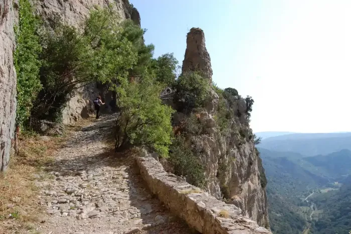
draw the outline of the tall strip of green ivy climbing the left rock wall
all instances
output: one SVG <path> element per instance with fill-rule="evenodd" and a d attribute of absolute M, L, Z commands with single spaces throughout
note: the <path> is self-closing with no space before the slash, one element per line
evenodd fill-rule
<path fill-rule="evenodd" d="M 19 2 L 19 25 L 15 28 L 16 51 L 14 64 L 17 72 L 17 125 L 22 126 L 28 120 L 33 101 L 42 88 L 39 79 L 41 62 L 39 53 L 42 48 L 36 34 L 39 21 L 32 14 L 28 0 Z"/>

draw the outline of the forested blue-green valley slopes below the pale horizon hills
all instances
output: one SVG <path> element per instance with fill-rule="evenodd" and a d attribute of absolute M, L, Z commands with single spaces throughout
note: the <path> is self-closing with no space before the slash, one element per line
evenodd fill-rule
<path fill-rule="evenodd" d="M 304 226 L 310 226 L 310 233 L 346 233 L 345 220 L 349 217 L 347 209 L 343 207 L 349 206 L 349 196 L 345 192 L 347 189 L 344 187 L 340 190 L 340 193 L 345 194 L 342 197 L 336 195 L 340 194 L 337 189 L 330 187 L 336 178 L 338 182 L 350 183 L 344 177 L 349 174 L 349 151 L 314 157 L 265 149 L 260 149 L 260 152 L 269 180 L 267 195 L 274 233 L 300 233 Z M 304 201 L 313 191 L 309 202 Z M 310 225 L 311 202 L 314 214 Z"/>

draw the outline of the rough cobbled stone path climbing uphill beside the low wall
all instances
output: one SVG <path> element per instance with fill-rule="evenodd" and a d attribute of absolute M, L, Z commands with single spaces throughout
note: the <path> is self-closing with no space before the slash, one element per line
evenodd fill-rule
<path fill-rule="evenodd" d="M 73 133 L 48 168 L 47 179 L 37 181 L 47 208 L 38 231 L 191 233 L 150 195 L 132 156 L 116 156 L 107 147 L 104 139 L 113 119 L 105 116 Z"/>

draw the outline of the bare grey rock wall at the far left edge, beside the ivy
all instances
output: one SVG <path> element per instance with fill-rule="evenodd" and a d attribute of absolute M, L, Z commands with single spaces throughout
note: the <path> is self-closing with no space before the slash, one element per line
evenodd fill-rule
<path fill-rule="evenodd" d="M 17 1 L 0 1 L 0 171 L 8 167 L 15 132 L 16 71 L 13 53 L 16 48 L 14 25 L 18 22 L 17 8 Z"/>

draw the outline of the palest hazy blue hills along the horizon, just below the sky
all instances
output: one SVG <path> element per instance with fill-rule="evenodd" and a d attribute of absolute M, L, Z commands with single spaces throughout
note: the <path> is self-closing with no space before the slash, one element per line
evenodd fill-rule
<path fill-rule="evenodd" d="M 327 155 L 343 149 L 351 150 L 351 133 L 287 134 L 263 139 L 258 146 L 306 156 Z"/>

